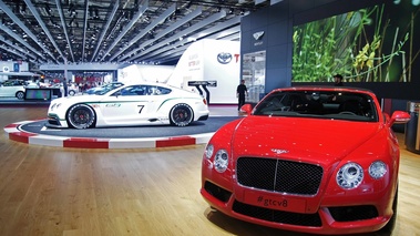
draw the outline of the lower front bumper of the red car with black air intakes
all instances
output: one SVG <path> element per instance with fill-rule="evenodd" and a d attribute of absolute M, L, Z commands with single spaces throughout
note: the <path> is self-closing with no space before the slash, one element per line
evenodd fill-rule
<path fill-rule="evenodd" d="M 254 192 L 262 201 L 270 198 L 270 195 L 265 192 Z M 320 205 L 314 213 L 303 213 L 305 211 L 298 209 L 298 204 L 295 204 L 291 211 L 280 209 L 283 203 L 293 204 L 293 201 L 296 201 L 293 196 L 288 196 L 288 202 L 269 199 L 268 206 L 249 204 L 245 203 L 246 197 L 236 197 L 233 192 L 209 181 L 204 182 L 201 194 L 212 207 L 228 216 L 267 227 L 310 234 L 337 235 L 376 232 L 382 228 L 391 217 L 380 216 L 377 205 L 363 203 L 351 206 Z M 303 207 L 305 208 L 305 206 Z"/>

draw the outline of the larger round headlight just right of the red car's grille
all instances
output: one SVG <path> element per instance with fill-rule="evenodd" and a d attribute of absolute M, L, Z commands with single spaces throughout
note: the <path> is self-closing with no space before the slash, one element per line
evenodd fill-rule
<path fill-rule="evenodd" d="M 359 164 L 347 163 L 337 172 L 336 181 L 342 188 L 355 188 L 363 181 L 363 170 Z"/>

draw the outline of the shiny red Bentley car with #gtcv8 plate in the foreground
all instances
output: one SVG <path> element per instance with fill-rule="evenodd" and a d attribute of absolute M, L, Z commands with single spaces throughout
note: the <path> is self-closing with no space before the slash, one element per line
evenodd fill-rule
<path fill-rule="evenodd" d="M 314 234 L 391 232 L 400 153 L 392 124 L 368 90 L 272 91 L 209 140 L 201 194 L 246 222 Z"/>

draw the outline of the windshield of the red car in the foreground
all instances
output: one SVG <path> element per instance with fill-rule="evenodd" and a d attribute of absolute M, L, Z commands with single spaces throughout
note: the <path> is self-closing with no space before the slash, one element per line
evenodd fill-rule
<path fill-rule="evenodd" d="M 254 115 L 378 121 L 371 96 L 336 91 L 275 92 L 255 107 Z"/>

